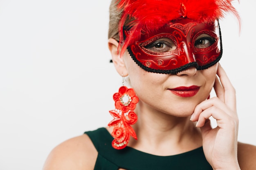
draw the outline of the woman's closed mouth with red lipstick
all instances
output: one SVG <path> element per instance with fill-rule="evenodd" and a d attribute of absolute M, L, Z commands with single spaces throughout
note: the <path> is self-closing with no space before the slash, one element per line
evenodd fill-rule
<path fill-rule="evenodd" d="M 180 86 L 180 87 L 176 87 L 174 89 L 169 89 L 169 90 L 173 94 L 180 96 L 180 97 L 192 97 L 198 93 L 199 89 L 200 89 L 199 86 L 192 85 L 189 87 Z"/>

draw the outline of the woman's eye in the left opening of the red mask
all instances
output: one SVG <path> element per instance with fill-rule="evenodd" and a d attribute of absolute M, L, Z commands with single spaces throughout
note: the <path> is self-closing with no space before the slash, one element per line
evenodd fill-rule
<path fill-rule="evenodd" d="M 148 44 L 144 48 L 153 52 L 169 52 L 175 50 L 176 46 L 171 39 L 162 38 Z"/>

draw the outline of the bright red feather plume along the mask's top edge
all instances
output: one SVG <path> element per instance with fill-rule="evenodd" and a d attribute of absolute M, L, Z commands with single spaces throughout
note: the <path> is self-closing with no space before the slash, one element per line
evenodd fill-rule
<path fill-rule="evenodd" d="M 240 24 L 240 17 L 231 4 L 232 1 L 117 0 L 117 10 L 123 11 L 119 22 L 119 48 L 122 46 L 120 56 L 132 42 L 139 39 L 141 32 L 157 30 L 172 20 L 183 17 L 195 22 L 207 23 L 225 17 L 226 12 L 231 12 L 238 18 Z"/>

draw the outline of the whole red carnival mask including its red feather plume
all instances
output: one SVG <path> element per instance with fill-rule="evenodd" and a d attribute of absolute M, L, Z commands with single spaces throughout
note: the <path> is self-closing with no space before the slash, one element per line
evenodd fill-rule
<path fill-rule="evenodd" d="M 119 0 L 121 55 L 148 72 L 175 74 L 203 70 L 222 56 L 218 19 L 232 12 L 233 0 Z M 118 1 L 117 1 L 118 2 Z"/>

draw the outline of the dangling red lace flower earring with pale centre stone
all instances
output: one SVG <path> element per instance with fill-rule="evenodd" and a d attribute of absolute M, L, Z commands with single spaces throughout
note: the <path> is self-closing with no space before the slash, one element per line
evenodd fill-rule
<path fill-rule="evenodd" d="M 114 126 L 111 135 L 115 138 L 112 141 L 112 147 L 115 149 L 123 149 L 127 146 L 130 135 L 137 139 L 137 135 L 130 125 L 137 122 L 137 115 L 133 112 L 139 98 L 136 96 L 133 89 L 128 89 L 126 86 L 119 88 L 119 92 L 113 95 L 115 100 L 115 110 L 109 111 L 114 119 L 108 126 Z"/>

